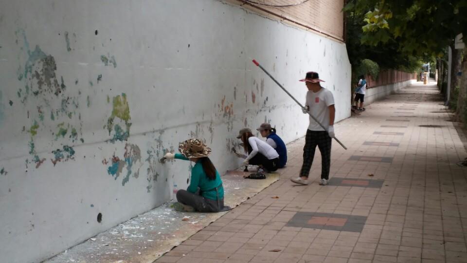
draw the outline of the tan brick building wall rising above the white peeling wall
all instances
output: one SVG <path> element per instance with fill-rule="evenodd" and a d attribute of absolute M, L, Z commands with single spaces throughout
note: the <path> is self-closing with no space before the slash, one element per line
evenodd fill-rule
<path fill-rule="evenodd" d="M 272 19 L 304 27 L 337 41 L 344 41 L 344 16 L 342 8 L 344 0 L 227 0 L 244 8 L 262 13 Z M 267 5 L 289 5 L 273 7 Z"/>

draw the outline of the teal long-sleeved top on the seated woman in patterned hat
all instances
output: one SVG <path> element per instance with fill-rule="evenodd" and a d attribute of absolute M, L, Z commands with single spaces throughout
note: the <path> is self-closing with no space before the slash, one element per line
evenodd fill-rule
<path fill-rule="evenodd" d="M 175 154 L 175 159 L 187 161 L 190 160 L 180 153 Z M 217 172 L 217 170 L 216 179 L 211 180 L 207 177 L 206 173 L 204 172 L 203 165 L 201 163 L 196 163 L 193 169 L 191 170 L 191 181 L 190 185 L 188 186 L 188 189 L 186 190 L 191 193 L 196 193 L 199 188 L 199 192 L 204 198 L 217 200 L 216 190 L 214 189 L 216 187 L 217 192 L 219 193 L 219 199 L 224 198 L 224 188 L 222 186 L 222 180 L 220 180 L 220 175 Z"/>

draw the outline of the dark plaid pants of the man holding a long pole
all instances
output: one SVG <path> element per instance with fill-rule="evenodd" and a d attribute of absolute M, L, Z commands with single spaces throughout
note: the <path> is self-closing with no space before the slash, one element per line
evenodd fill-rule
<path fill-rule="evenodd" d="M 303 165 L 300 176 L 308 177 L 308 173 L 315 157 L 316 146 L 321 152 L 321 178 L 329 179 L 329 167 L 331 166 L 331 142 L 327 131 L 306 131 L 305 147 L 303 148 Z"/>

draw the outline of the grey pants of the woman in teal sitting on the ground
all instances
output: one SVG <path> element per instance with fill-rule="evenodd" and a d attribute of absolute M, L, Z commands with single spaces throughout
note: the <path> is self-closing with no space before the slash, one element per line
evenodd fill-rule
<path fill-rule="evenodd" d="M 183 205 L 194 207 L 198 212 L 219 212 L 224 208 L 224 199 L 213 200 L 199 195 L 199 191 L 191 193 L 187 190 L 177 191 L 177 201 Z"/>

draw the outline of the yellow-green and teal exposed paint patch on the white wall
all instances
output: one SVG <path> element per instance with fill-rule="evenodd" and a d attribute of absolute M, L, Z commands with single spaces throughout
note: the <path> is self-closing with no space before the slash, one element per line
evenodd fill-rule
<path fill-rule="evenodd" d="M 125 122 L 125 131 L 119 124 L 114 124 L 116 118 Z M 128 106 L 128 101 L 126 100 L 126 94 L 122 93 L 122 95 L 113 97 L 112 115 L 107 121 L 108 135 L 110 135 L 112 130 L 114 130 L 113 138 L 110 139 L 112 143 L 115 141 L 126 141 L 128 139 L 131 127 L 131 123 L 129 122 L 130 118 L 130 108 Z"/>

